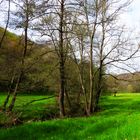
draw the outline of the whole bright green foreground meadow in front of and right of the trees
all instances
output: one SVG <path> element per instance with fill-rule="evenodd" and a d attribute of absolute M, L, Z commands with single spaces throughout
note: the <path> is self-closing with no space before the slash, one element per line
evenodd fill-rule
<path fill-rule="evenodd" d="M 43 101 L 44 102 L 44 101 Z M 0 130 L 0 140 L 139 140 L 140 94 L 102 97 L 88 118 L 26 123 Z"/>

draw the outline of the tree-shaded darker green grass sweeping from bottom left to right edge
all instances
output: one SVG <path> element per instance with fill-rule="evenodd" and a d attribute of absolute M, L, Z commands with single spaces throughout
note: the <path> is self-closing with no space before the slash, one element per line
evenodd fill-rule
<path fill-rule="evenodd" d="M 116 131 L 127 124 L 127 115 L 140 112 L 140 102 L 133 99 L 102 99 L 101 112 L 89 118 L 65 119 L 25 124 L 0 130 L 0 140 L 86 140 Z M 97 136 L 97 137 L 96 137 Z"/>

